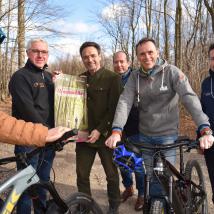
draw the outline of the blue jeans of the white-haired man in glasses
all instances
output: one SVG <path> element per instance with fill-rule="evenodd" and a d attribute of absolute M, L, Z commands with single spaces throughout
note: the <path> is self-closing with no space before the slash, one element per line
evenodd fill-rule
<path fill-rule="evenodd" d="M 26 147 L 26 146 L 15 146 L 15 154 L 21 152 L 30 152 L 34 148 L 33 147 Z M 52 150 L 46 150 L 41 152 L 38 155 L 35 155 L 32 159 L 28 161 L 36 170 L 37 174 L 43 181 L 50 180 L 50 171 L 53 164 L 53 159 L 55 157 L 55 152 Z M 24 166 L 21 163 L 17 163 L 17 170 L 23 169 Z M 39 200 L 42 202 L 44 206 L 46 206 L 46 190 L 42 188 L 37 188 L 37 194 Z M 20 200 L 17 203 L 17 214 L 31 214 L 31 198 L 27 193 L 24 193 Z M 39 208 L 34 208 L 34 213 L 39 214 L 41 211 Z"/>

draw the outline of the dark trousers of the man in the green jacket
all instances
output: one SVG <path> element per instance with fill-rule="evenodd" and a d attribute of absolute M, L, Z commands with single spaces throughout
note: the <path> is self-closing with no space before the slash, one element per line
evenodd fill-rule
<path fill-rule="evenodd" d="M 94 159 L 98 153 L 101 164 L 103 165 L 106 180 L 109 205 L 117 207 L 120 203 L 119 176 L 116 166 L 112 161 L 113 150 L 105 146 L 92 147 L 87 143 L 76 145 L 76 172 L 77 187 L 79 192 L 91 195 L 90 172 Z"/>

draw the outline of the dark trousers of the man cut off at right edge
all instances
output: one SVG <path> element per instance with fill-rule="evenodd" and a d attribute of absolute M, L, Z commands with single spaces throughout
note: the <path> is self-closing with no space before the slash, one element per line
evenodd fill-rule
<path fill-rule="evenodd" d="M 210 183 L 212 187 L 212 193 L 213 193 L 213 203 L 214 203 L 214 146 L 212 146 L 209 149 L 204 150 L 204 157 L 207 164 L 207 169 L 209 173 Z"/>

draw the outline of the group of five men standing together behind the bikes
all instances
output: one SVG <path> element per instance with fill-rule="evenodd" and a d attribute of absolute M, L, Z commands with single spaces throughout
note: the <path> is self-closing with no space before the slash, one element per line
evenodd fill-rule
<path fill-rule="evenodd" d="M 119 213 L 121 201 L 126 201 L 134 191 L 132 175 L 121 171 L 125 191 L 120 195 L 119 174 L 112 161 L 116 143 L 123 137 L 148 143 L 174 142 L 178 136 L 179 97 L 198 126 L 200 146 L 205 149 L 205 158 L 214 190 L 214 168 L 211 166 L 214 157 L 212 147 L 214 141 L 212 136 L 214 128 L 212 110 L 214 45 L 210 47 L 210 77 L 202 85 L 202 106 L 204 112 L 209 116 L 208 119 L 185 74 L 160 58 L 153 39 L 144 38 L 137 43 L 136 56 L 140 67 L 136 70 L 131 69 L 126 53 L 116 52 L 113 56 L 115 72 L 101 66 L 101 48 L 97 43 L 85 42 L 81 45 L 80 56 L 86 69 L 86 72 L 81 75 L 87 77 L 90 134 L 87 142 L 76 145 L 77 187 L 80 192 L 91 195 L 90 172 L 95 155 L 98 153 L 107 180 L 108 214 Z M 30 40 L 26 52 L 27 63 L 13 74 L 9 83 L 12 95 L 12 115 L 26 122 L 43 124 L 41 127 L 45 134 L 42 135 L 41 142 L 44 142 L 47 128 L 50 133 L 54 127 L 54 83 L 51 74 L 47 71 L 48 44 L 40 38 Z M 63 131 L 61 130 L 60 134 Z M 15 153 L 28 152 L 32 149 L 33 147 L 29 145 L 17 145 Z M 54 155 L 51 151 L 45 151 L 31 161 L 43 180 L 50 179 Z M 148 162 L 145 164 L 146 166 L 151 164 L 151 155 L 144 158 Z M 174 150 L 170 150 L 167 157 L 172 163 L 175 163 Z M 40 162 L 41 159 L 42 162 Z M 22 167 L 20 164 L 17 165 L 18 169 Z M 150 172 L 149 168 L 146 170 L 147 173 Z M 136 211 L 143 208 L 144 173 L 143 166 L 142 173 L 135 173 L 138 189 Z M 45 191 L 40 189 L 38 194 L 39 199 L 45 204 Z M 40 213 L 39 208 L 34 209 L 34 212 Z M 24 194 L 18 203 L 17 214 L 20 213 L 31 213 L 31 199 L 28 193 Z"/>

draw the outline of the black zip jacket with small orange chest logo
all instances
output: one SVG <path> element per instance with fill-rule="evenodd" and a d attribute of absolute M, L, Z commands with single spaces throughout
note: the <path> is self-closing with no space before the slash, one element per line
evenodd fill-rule
<path fill-rule="evenodd" d="M 51 74 L 30 60 L 16 71 L 9 82 L 12 115 L 27 122 L 54 127 L 54 85 Z"/>

